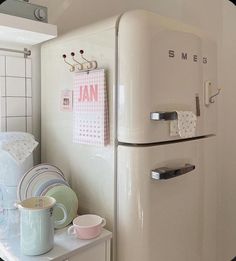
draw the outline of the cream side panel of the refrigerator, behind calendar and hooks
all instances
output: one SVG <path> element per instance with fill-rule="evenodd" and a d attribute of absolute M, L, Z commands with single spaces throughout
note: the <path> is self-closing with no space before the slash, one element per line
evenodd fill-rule
<path fill-rule="evenodd" d="M 106 29 L 104 29 L 106 28 Z M 99 32 L 99 33 L 98 33 Z M 65 174 L 79 200 L 79 213 L 97 213 L 106 218 L 111 229 L 114 220 L 114 114 L 109 106 L 110 144 L 86 146 L 72 141 L 73 114 L 60 110 L 61 91 L 73 88 L 73 74 L 63 62 L 62 54 L 78 50 L 78 43 L 109 70 L 106 77 L 108 100 L 113 104 L 115 19 L 78 30 L 45 43 L 42 63 L 42 161 L 58 166 Z M 56 68 L 56 69 L 52 69 Z"/>

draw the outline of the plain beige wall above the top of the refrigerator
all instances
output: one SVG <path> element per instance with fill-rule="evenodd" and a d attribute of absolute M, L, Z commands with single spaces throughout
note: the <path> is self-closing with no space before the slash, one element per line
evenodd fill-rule
<path fill-rule="evenodd" d="M 130 9 L 147 9 L 199 26 L 217 38 L 222 0 L 31 0 L 48 6 L 49 22 L 59 33 L 104 19 Z"/>

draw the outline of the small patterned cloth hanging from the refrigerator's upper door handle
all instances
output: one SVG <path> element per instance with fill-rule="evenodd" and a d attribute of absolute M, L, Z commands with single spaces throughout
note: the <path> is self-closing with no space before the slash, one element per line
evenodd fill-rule
<path fill-rule="evenodd" d="M 177 120 L 170 122 L 170 136 L 191 138 L 195 136 L 197 116 L 191 111 L 176 111 Z"/>

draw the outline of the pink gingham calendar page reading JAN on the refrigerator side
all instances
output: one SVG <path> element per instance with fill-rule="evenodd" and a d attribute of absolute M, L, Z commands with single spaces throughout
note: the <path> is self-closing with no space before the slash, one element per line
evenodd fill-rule
<path fill-rule="evenodd" d="M 76 73 L 73 95 L 73 142 L 98 146 L 108 144 L 105 70 Z"/>

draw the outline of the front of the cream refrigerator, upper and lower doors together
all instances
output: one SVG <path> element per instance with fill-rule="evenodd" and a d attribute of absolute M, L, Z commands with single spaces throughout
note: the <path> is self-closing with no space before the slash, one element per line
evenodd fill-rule
<path fill-rule="evenodd" d="M 118 33 L 119 261 L 216 260 L 216 46 L 147 13 Z M 194 139 L 170 136 L 175 111 L 197 115 Z"/>

